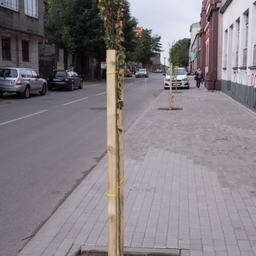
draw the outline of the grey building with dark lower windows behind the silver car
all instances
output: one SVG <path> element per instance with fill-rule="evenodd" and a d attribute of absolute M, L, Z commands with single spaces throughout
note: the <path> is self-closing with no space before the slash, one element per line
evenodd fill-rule
<path fill-rule="evenodd" d="M 1 0 L 1 67 L 39 71 L 38 40 L 44 36 L 43 15 L 43 1 Z"/>

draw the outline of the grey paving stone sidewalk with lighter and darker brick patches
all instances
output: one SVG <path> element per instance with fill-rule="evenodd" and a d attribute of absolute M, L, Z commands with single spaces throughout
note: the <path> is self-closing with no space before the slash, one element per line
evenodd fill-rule
<path fill-rule="evenodd" d="M 125 246 L 256 255 L 256 115 L 193 80 L 183 110 L 168 95 L 125 133 Z M 106 186 L 105 156 L 19 256 L 107 246 Z"/>

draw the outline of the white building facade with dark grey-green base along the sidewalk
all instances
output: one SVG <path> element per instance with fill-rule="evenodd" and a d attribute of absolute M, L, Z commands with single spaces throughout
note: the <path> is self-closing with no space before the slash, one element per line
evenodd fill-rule
<path fill-rule="evenodd" d="M 227 0 L 221 13 L 221 90 L 256 112 L 256 1 Z"/>

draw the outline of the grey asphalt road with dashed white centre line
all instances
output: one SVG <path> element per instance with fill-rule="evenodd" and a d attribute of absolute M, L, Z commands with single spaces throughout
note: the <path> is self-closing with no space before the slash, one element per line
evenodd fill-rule
<path fill-rule="evenodd" d="M 125 129 L 163 79 L 125 79 Z M 13 256 L 105 154 L 106 82 L 28 100 L 4 95 L 0 145 L 0 255 Z"/>

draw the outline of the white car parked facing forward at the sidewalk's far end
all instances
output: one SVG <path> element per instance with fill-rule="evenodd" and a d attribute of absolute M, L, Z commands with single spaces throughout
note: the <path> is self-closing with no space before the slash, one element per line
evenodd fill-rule
<path fill-rule="evenodd" d="M 172 88 L 176 87 L 176 69 L 172 69 Z M 170 68 L 168 68 L 164 78 L 164 89 L 170 88 Z M 189 89 L 189 81 L 185 68 L 177 68 L 177 88 Z"/>

